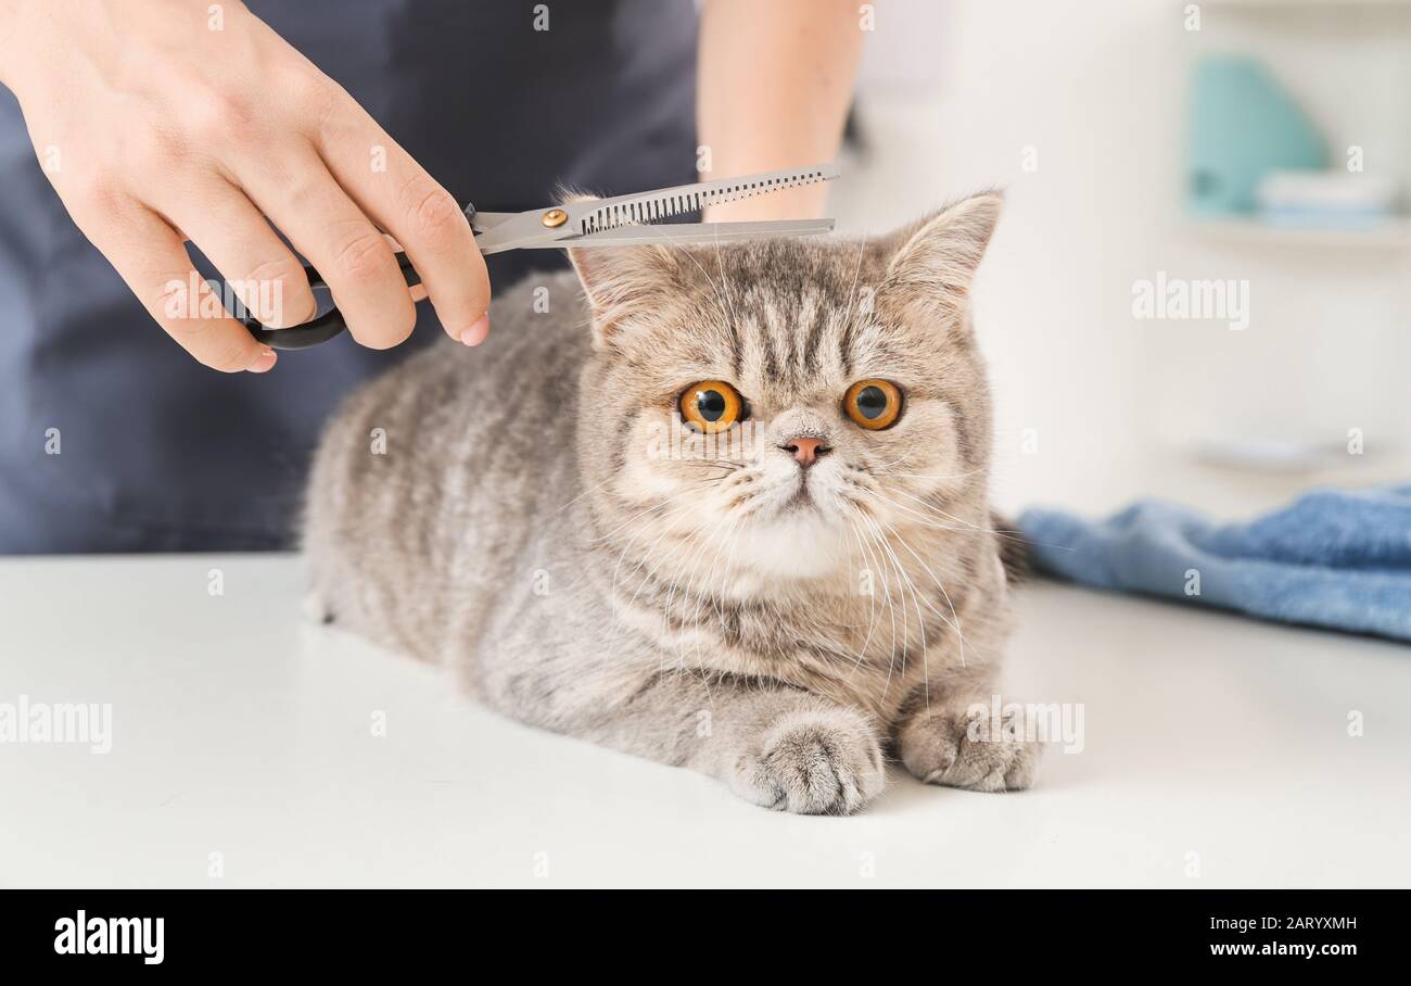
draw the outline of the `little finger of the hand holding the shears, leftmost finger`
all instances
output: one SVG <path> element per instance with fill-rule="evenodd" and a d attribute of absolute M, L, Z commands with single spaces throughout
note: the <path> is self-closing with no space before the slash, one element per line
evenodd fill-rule
<path fill-rule="evenodd" d="M 230 316 L 165 219 L 131 201 L 80 225 L 148 314 L 196 360 L 222 373 L 264 373 L 275 364 L 275 352 Z"/>

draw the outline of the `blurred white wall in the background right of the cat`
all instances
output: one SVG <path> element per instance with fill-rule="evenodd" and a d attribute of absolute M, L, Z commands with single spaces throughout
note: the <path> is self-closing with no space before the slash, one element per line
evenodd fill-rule
<path fill-rule="evenodd" d="M 1411 174 L 1411 7 L 1264 6 L 1206 1 L 1188 31 L 1167 0 L 876 3 L 859 90 L 871 154 L 845 167 L 834 209 L 845 232 L 880 230 L 1007 188 L 975 292 L 1005 507 L 1163 494 L 1235 513 L 1318 482 L 1411 477 L 1411 246 L 1226 242 L 1180 209 L 1202 51 L 1266 57 L 1335 150 Z M 1133 281 L 1158 270 L 1247 280 L 1249 329 L 1133 318 Z M 1346 455 L 1349 428 L 1364 456 Z M 1257 472 L 1189 451 L 1247 439 L 1333 455 Z"/>

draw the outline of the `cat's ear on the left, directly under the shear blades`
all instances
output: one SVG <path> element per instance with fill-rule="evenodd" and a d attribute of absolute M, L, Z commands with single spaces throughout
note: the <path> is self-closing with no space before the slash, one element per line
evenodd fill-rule
<path fill-rule="evenodd" d="M 569 250 L 593 309 L 593 345 L 612 346 L 629 319 L 650 318 L 682 287 L 676 254 L 659 244 Z"/>

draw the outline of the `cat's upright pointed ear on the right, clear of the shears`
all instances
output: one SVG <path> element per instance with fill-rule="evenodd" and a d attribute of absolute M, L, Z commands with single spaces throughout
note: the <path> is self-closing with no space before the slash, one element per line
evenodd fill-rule
<path fill-rule="evenodd" d="M 886 237 L 885 287 L 950 308 L 965 304 L 1003 195 L 981 192 Z"/>

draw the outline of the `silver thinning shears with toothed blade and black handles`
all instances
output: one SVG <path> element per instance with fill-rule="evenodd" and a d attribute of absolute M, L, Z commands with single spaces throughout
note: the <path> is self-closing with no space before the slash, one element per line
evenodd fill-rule
<path fill-rule="evenodd" d="M 504 250 L 547 247 L 614 247 L 642 243 L 715 243 L 725 240 L 775 236 L 807 236 L 832 230 L 832 219 L 783 219 L 776 222 L 670 223 L 653 226 L 659 219 L 698 212 L 708 205 L 735 202 L 786 188 L 799 188 L 838 177 L 832 164 L 786 171 L 766 171 L 741 178 L 703 181 L 693 185 L 659 188 L 610 199 L 569 202 L 529 212 L 478 212 L 466 206 L 466 218 L 483 254 Z M 408 287 L 422 283 L 405 253 L 396 254 L 398 267 Z M 312 264 L 303 266 L 309 287 L 327 290 Z M 308 349 L 343 332 L 347 323 L 334 307 L 310 322 L 288 329 L 267 329 L 247 311 L 236 315 L 250 333 L 275 349 Z"/>

